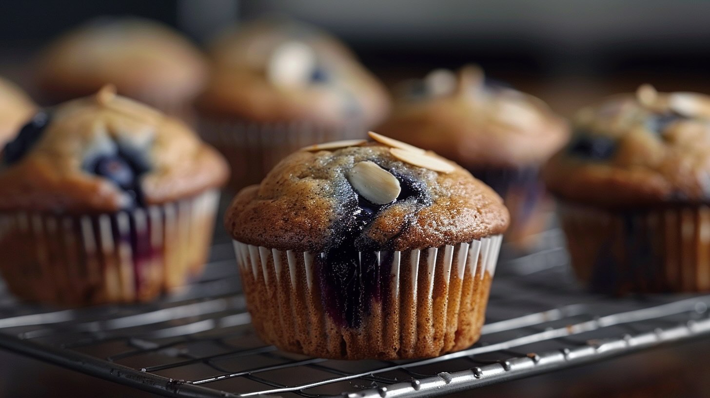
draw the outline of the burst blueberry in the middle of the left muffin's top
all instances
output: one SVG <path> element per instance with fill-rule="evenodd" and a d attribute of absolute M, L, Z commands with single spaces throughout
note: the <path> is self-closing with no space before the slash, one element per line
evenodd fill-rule
<path fill-rule="evenodd" d="M 133 198 L 133 205 L 145 206 L 140 176 L 150 170 L 136 149 L 119 146 L 116 154 L 100 154 L 84 161 L 84 170 L 116 184 Z"/>

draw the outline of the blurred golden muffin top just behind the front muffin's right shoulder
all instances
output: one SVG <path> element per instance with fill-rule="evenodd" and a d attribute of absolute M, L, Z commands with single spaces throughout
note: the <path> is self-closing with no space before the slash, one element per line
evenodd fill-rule
<path fill-rule="evenodd" d="M 486 82 L 474 65 L 408 82 L 378 129 L 469 169 L 541 163 L 569 135 L 567 123 L 540 99 Z"/>

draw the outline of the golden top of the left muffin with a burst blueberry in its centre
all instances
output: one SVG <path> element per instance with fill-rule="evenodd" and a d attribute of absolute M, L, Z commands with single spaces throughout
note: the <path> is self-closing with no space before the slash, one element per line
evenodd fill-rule
<path fill-rule="evenodd" d="M 2 165 L 0 210 L 113 212 L 186 198 L 228 176 L 185 124 L 111 86 L 35 114 Z"/>

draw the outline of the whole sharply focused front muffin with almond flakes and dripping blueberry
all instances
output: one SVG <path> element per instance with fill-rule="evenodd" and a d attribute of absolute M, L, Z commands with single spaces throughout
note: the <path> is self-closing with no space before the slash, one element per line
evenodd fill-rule
<path fill-rule="evenodd" d="M 288 156 L 225 220 L 253 324 L 283 350 L 434 357 L 481 334 L 508 211 L 455 163 L 372 134 Z"/>

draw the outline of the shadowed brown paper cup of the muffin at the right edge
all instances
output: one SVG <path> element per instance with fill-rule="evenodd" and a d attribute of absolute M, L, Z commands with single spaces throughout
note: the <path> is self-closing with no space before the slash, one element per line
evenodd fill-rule
<path fill-rule="evenodd" d="M 572 267 L 592 291 L 710 291 L 710 207 L 558 211 Z"/>

